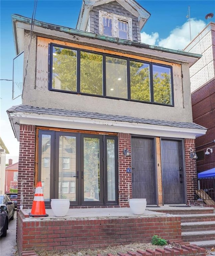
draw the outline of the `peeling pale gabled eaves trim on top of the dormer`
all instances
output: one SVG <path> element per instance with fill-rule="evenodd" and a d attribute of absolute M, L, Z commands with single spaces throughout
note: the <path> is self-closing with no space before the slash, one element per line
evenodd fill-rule
<path fill-rule="evenodd" d="M 150 17 L 150 13 L 147 12 L 142 6 L 133 0 L 84 0 L 82 1 L 81 10 L 78 17 L 76 29 L 86 31 L 89 12 L 94 6 L 106 4 L 109 2 L 116 1 L 122 5 L 126 10 L 138 18 L 140 30 L 145 25 L 146 21 Z"/>

